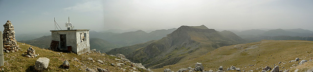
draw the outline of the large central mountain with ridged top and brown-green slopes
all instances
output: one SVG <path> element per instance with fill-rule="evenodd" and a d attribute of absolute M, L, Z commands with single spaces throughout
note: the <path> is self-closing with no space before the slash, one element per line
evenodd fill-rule
<path fill-rule="evenodd" d="M 151 42 L 151 43 L 150 43 Z M 132 48 L 132 53 L 126 54 L 127 58 L 138 63 L 143 63 L 152 69 L 165 65 L 176 64 L 189 58 L 198 57 L 222 46 L 245 43 L 241 37 L 230 31 L 218 32 L 206 26 L 181 26 L 171 34 L 157 41 L 149 41 L 121 50 Z M 113 49 L 107 54 L 124 53 Z"/>

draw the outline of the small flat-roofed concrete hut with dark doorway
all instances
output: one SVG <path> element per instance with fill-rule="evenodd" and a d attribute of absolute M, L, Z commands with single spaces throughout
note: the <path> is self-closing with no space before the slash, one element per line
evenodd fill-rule
<path fill-rule="evenodd" d="M 52 41 L 59 41 L 57 49 L 76 54 L 89 52 L 89 30 L 51 30 Z"/>

